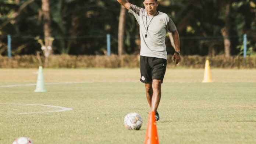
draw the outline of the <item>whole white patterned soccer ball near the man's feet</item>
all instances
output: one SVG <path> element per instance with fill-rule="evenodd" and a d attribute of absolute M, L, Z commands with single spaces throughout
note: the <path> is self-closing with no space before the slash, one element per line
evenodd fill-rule
<path fill-rule="evenodd" d="M 124 117 L 124 125 L 129 130 L 139 130 L 142 126 L 142 118 L 136 112 L 131 112 Z"/>

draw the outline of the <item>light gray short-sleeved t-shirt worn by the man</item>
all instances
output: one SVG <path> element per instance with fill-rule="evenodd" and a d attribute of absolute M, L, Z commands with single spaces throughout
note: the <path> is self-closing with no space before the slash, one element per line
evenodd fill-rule
<path fill-rule="evenodd" d="M 156 57 L 167 59 L 166 33 L 174 32 L 177 28 L 167 14 L 159 13 L 153 18 L 147 15 L 144 8 L 131 4 L 129 13 L 133 14 L 139 23 L 141 36 L 141 54 L 145 57 Z M 152 19 L 153 18 L 153 19 Z M 152 20 L 150 22 L 150 20 Z M 147 30 L 148 26 L 148 30 Z M 145 37 L 145 35 L 147 35 Z"/>

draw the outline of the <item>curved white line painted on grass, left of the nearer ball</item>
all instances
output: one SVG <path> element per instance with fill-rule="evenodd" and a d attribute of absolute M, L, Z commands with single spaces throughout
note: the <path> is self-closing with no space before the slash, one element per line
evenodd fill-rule
<path fill-rule="evenodd" d="M 60 110 L 57 111 L 45 111 L 45 112 L 25 112 L 25 113 L 18 113 L 18 114 L 8 114 L 8 115 L 26 115 L 26 114 L 42 114 L 42 113 L 49 113 L 49 112 L 63 112 L 63 111 L 71 111 L 72 108 L 65 108 L 56 105 L 44 105 L 44 104 L 6 104 L 0 103 L 3 105 L 29 105 L 29 106 L 42 106 L 42 107 L 52 107 L 52 108 L 59 108 Z"/>

